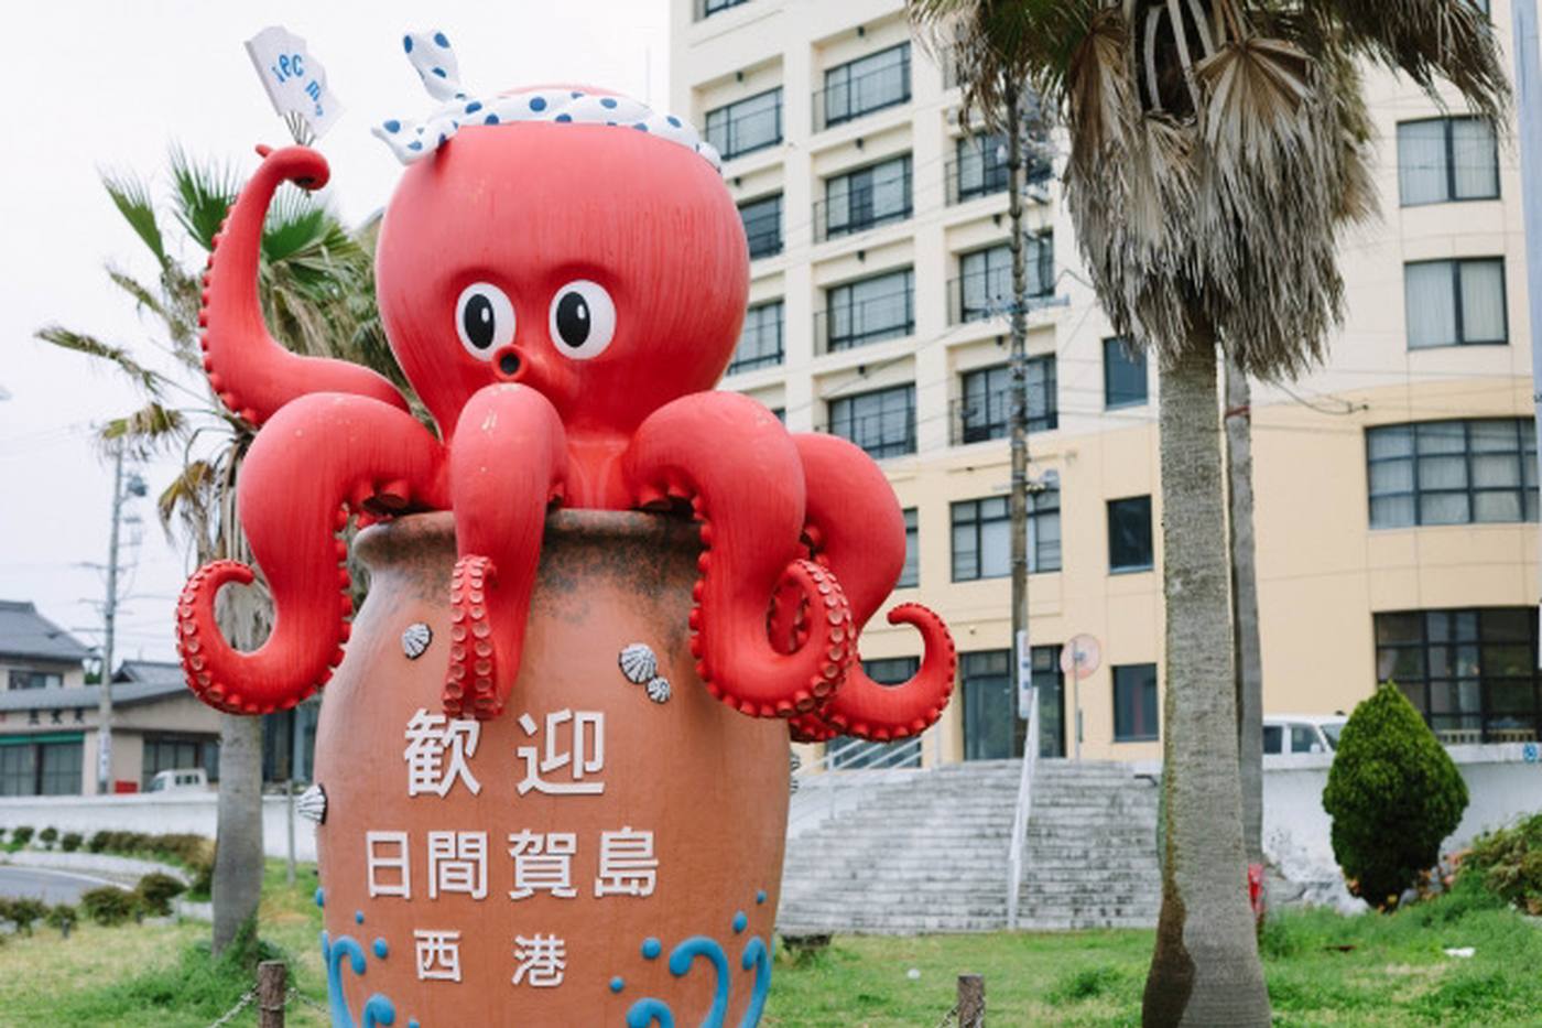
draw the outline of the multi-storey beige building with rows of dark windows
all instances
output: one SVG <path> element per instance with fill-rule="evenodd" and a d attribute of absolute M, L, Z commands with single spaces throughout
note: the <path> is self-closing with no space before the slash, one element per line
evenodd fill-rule
<path fill-rule="evenodd" d="M 1494 5 L 1510 39 L 1508 3 Z M 947 63 L 947 62 L 942 62 Z M 723 387 L 880 460 L 913 526 L 894 600 L 942 613 L 945 759 L 1021 752 L 1008 645 L 1010 255 L 1001 140 L 961 123 L 901 0 L 674 0 L 671 107 L 722 150 L 752 256 Z M 1345 247 L 1328 364 L 1255 384 L 1268 713 L 1349 710 L 1394 676 L 1448 741 L 1536 739 L 1537 492 L 1513 147 L 1369 76 L 1385 219 Z M 1052 151 L 1053 148 L 1050 148 Z M 1056 162 L 1055 171 L 1059 170 Z M 1044 753 L 1160 755 L 1156 374 L 1112 338 L 1059 185 L 1029 188 L 1030 608 Z M 1079 684 L 1055 668 L 1101 647 Z M 919 641 L 876 617 L 864 658 Z"/>

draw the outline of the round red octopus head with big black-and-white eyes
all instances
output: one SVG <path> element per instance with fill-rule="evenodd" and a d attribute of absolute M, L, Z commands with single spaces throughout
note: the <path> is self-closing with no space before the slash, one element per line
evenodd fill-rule
<path fill-rule="evenodd" d="M 409 167 L 376 253 L 392 350 L 446 435 L 498 381 L 571 432 L 629 434 L 722 375 L 748 270 L 712 164 L 606 123 L 460 127 Z"/>

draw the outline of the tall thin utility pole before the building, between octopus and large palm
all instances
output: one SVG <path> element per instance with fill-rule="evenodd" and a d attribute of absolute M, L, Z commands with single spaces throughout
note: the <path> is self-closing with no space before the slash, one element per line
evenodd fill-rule
<path fill-rule="evenodd" d="M 1012 684 L 1019 716 L 1033 681 L 1029 670 L 1029 264 L 1022 252 L 1022 93 L 1007 83 L 1007 191 L 1012 221 Z M 1036 702 L 1038 698 L 1033 698 Z M 1024 739 L 1024 758 L 1038 739 Z"/>

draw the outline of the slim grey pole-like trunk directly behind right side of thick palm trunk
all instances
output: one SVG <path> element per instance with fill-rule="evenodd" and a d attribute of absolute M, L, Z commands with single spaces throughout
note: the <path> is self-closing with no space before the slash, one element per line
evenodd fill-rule
<path fill-rule="evenodd" d="M 1263 863 L 1263 654 L 1258 644 L 1258 560 L 1254 548 L 1252 395 L 1226 355 L 1226 474 L 1232 540 L 1232 637 L 1237 741 L 1243 786 L 1243 849 Z"/>

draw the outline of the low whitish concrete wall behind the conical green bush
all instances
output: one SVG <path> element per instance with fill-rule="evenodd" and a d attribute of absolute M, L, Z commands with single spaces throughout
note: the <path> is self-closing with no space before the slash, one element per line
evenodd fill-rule
<path fill-rule="evenodd" d="M 1442 852 L 1459 850 L 1476 837 L 1542 810 L 1542 763 L 1534 744 L 1453 746 L 1470 795 L 1466 813 Z M 1323 810 L 1331 753 L 1264 758 L 1263 840 L 1269 861 L 1317 901 L 1362 911 L 1343 888 Z"/>

